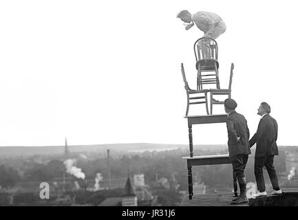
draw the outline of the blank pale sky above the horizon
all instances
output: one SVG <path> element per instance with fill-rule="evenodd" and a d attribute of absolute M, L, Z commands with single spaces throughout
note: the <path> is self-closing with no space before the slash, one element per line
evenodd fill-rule
<path fill-rule="evenodd" d="M 188 144 L 187 95 L 195 88 L 193 43 L 180 10 L 215 12 L 220 84 L 257 130 L 266 101 L 277 144 L 297 145 L 295 1 L 0 1 L 0 146 Z M 205 113 L 191 106 L 189 115 Z M 217 105 L 213 113 L 224 113 Z M 194 144 L 225 144 L 226 125 L 193 126 Z"/>

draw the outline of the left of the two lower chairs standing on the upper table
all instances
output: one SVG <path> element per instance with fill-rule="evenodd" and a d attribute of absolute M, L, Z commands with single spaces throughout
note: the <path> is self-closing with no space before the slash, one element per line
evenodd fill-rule
<path fill-rule="evenodd" d="M 187 83 L 187 78 L 185 77 L 183 63 L 181 63 L 181 72 L 182 72 L 182 77 L 184 81 L 184 88 L 187 91 L 187 112 L 185 113 L 185 115 L 187 116 L 189 113 L 189 104 L 203 104 L 203 103 L 206 104 L 206 113 L 207 115 L 209 115 L 208 100 L 207 100 L 207 93 L 209 90 L 208 89 L 193 90 L 189 88 L 189 84 Z M 192 96 L 193 94 L 202 94 L 203 96 Z M 204 98 L 204 101 L 190 102 L 190 100 L 199 100 L 203 98 Z"/>

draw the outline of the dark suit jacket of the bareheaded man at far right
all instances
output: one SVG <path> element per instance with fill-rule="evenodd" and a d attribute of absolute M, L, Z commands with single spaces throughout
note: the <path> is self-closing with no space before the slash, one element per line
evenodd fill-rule
<path fill-rule="evenodd" d="M 249 140 L 249 145 L 257 143 L 255 157 L 265 157 L 266 155 L 278 155 L 277 140 L 277 122 L 269 114 L 259 121 L 257 133 Z"/>

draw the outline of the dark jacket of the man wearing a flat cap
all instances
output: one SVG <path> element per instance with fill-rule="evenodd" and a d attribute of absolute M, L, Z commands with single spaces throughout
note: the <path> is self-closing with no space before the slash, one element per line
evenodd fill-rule
<path fill-rule="evenodd" d="M 226 128 L 228 129 L 228 153 L 229 157 L 238 154 L 251 154 L 249 146 L 249 129 L 243 115 L 232 111 L 227 118 Z M 240 137 L 238 140 L 237 137 Z"/>

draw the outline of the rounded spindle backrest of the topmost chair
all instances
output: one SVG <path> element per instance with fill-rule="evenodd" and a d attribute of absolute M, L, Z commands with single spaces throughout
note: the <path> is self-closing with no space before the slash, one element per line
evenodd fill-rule
<path fill-rule="evenodd" d="M 214 39 L 206 37 L 198 39 L 193 45 L 193 50 L 195 52 L 195 63 L 206 59 L 206 54 L 209 54 L 211 59 L 217 61 L 218 47 Z"/>

